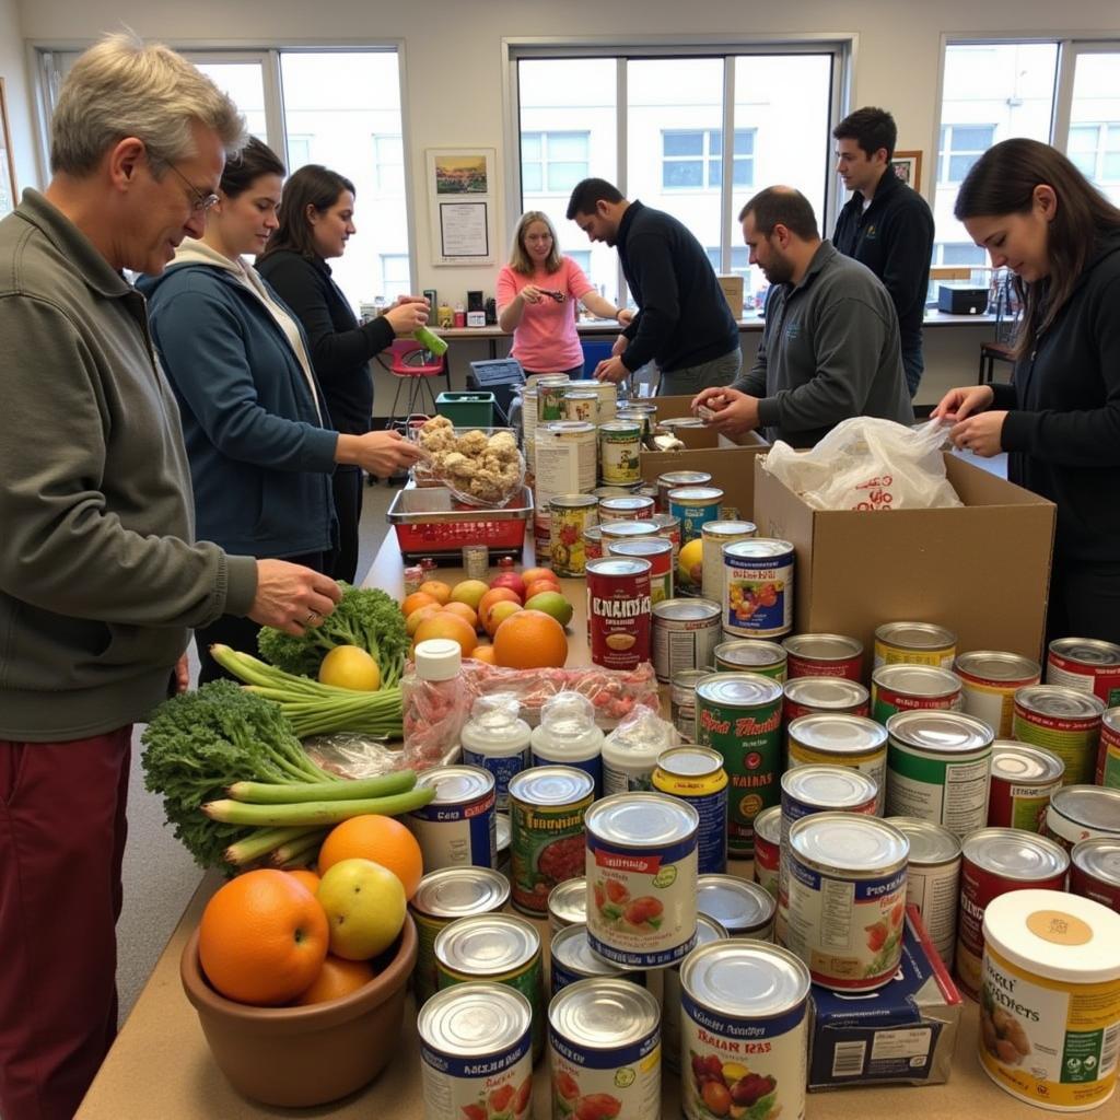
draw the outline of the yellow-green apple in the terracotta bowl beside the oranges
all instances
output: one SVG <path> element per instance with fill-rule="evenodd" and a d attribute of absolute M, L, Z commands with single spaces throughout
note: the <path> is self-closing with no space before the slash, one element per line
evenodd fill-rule
<path fill-rule="evenodd" d="M 330 952 L 347 961 L 383 953 L 404 925 L 404 887 L 372 859 L 335 864 L 323 876 L 316 897 L 327 912 Z"/>

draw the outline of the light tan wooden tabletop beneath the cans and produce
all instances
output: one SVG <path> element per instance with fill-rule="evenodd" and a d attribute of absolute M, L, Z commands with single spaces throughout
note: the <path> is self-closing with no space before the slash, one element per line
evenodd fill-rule
<path fill-rule="evenodd" d="M 399 594 L 403 582 L 400 553 L 392 532 L 374 561 L 366 586 Z M 441 579 L 454 582 L 461 572 L 445 570 Z M 569 626 L 569 663 L 586 663 L 586 607 L 581 580 L 563 580 L 563 590 L 576 613 Z M 749 864 L 732 865 L 731 870 L 750 877 Z M 97 1079 L 76 1116 L 78 1120 L 256 1120 L 263 1117 L 339 1117 L 352 1120 L 421 1120 L 420 1053 L 416 1014 L 411 1001 L 401 1032 L 400 1052 L 381 1076 L 365 1090 L 315 1109 L 278 1110 L 245 1101 L 230 1088 L 209 1055 L 194 1009 L 179 983 L 179 958 L 192 931 L 198 924 L 206 900 L 220 885 L 220 877 L 208 875 L 195 892 L 181 921 L 144 986 L 105 1058 Z M 547 925 L 539 923 L 548 943 Z M 1015 1120 L 1040 1113 L 1020 1104 L 999 1090 L 980 1068 L 977 1060 L 977 1005 L 965 999 L 956 1039 L 956 1062 L 952 1080 L 945 1085 L 923 1089 L 877 1086 L 848 1089 L 833 1093 L 811 1093 L 808 1120 L 899 1120 L 921 1112 L 931 1118 L 958 1120 L 983 1117 L 984 1120 Z M 548 1062 L 538 1063 L 534 1075 L 534 1116 L 550 1117 Z M 1101 1110 L 1101 1116 L 1108 1109 Z M 666 1073 L 663 1081 L 662 1117 L 680 1116 L 678 1079 Z M 444 1118 L 440 1118 L 444 1120 Z M 446 1120 L 455 1120 L 448 1117 Z M 655 1120 L 655 1118 L 635 1118 Z M 783 1120 L 795 1120 L 784 1117 Z"/>

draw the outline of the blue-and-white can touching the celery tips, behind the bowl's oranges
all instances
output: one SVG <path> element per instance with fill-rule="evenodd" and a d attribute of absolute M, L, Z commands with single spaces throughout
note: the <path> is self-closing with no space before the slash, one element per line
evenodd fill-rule
<path fill-rule="evenodd" d="M 480 766 L 433 766 L 417 778 L 436 796 L 404 819 L 429 871 L 442 867 L 493 867 L 497 859 L 494 775 Z"/>

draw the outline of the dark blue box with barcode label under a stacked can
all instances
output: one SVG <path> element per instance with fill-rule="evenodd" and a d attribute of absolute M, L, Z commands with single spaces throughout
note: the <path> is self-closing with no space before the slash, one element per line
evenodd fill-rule
<path fill-rule="evenodd" d="M 916 906 L 906 907 L 903 959 L 876 991 L 840 995 L 813 984 L 809 1088 L 949 1080 L 961 993 L 930 943 Z"/>

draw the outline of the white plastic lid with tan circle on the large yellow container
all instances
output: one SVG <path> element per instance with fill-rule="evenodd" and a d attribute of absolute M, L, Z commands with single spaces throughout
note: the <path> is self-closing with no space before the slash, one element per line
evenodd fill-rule
<path fill-rule="evenodd" d="M 988 903 L 986 949 L 1048 980 L 1099 983 L 1120 977 L 1120 914 L 1062 890 L 1009 890 Z"/>

